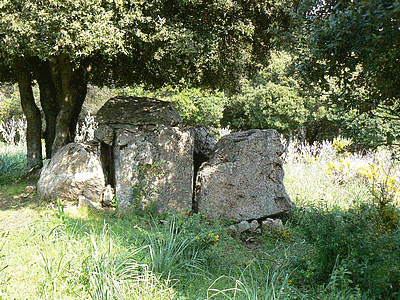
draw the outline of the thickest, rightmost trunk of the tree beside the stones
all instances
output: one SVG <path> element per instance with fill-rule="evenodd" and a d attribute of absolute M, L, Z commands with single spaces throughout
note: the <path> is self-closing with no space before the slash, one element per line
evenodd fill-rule
<path fill-rule="evenodd" d="M 60 111 L 56 120 L 56 132 L 52 155 L 58 149 L 72 142 L 76 124 L 86 98 L 88 70 L 84 66 L 74 69 L 67 55 L 60 55 L 52 61 L 53 78 L 57 78 L 56 89 Z"/>

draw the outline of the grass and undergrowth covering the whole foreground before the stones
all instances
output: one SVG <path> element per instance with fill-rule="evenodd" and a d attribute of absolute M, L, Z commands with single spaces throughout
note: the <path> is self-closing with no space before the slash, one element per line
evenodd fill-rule
<path fill-rule="evenodd" d="M 200 215 L 64 208 L 3 185 L 0 299 L 399 299 L 398 207 L 325 168 L 285 165 L 294 208 L 256 245 Z"/>

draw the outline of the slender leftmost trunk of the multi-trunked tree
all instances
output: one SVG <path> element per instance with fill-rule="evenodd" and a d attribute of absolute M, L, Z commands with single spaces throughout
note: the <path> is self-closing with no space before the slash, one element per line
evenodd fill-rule
<path fill-rule="evenodd" d="M 36 106 L 32 91 L 32 76 L 28 65 L 24 61 L 17 64 L 15 74 L 18 80 L 21 106 L 27 121 L 26 147 L 27 172 L 42 167 L 42 119 L 40 110 Z"/>

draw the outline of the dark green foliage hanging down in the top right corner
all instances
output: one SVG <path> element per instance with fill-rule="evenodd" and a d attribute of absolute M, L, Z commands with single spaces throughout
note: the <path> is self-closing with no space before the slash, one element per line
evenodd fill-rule
<path fill-rule="evenodd" d="M 377 118 L 391 124 L 400 116 L 399 16 L 399 2 L 386 0 L 305 0 L 296 14 L 299 70 L 305 81 L 329 91 L 343 114 L 360 115 L 360 121 L 346 120 L 345 131 L 354 137 L 361 131 L 361 144 L 397 138 Z M 376 139 L 362 132 L 368 119 Z"/>

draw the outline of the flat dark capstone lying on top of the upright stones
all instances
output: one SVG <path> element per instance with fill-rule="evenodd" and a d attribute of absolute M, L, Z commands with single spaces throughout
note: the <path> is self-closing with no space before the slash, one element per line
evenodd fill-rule
<path fill-rule="evenodd" d="M 171 102 L 153 98 L 115 97 L 108 100 L 98 111 L 99 124 L 176 126 L 182 118 Z"/>

